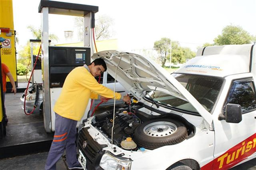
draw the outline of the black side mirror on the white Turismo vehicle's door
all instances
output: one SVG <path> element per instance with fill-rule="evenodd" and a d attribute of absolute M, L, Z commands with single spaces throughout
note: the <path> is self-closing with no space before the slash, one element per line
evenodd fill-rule
<path fill-rule="evenodd" d="M 241 105 L 228 104 L 226 105 L 226 122 L 239 123 L 242 121 Z"/>

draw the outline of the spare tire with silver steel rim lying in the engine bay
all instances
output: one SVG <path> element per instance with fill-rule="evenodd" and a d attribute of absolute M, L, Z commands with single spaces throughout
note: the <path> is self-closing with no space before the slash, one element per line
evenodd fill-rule
<path fill-rule="evenodd" d="M 183 123 L 172 119 L 155 119 L 142 123 L 134 132 L 135 142 L 146 149 L 178 144 L 187 137 Z"/>

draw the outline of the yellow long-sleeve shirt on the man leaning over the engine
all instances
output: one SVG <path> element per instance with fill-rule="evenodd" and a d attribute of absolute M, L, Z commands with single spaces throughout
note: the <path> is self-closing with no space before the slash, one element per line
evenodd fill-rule
<path fill-rule="evenodd" d="M 84 116 L 89 99 L 98 99 L 98 94 L 114 98 L 114 92 L 99 84 L 84 66 L 76 67 L 65 79 L 54 111 L 64 118 L 79 121 Z M 117 100 L 121 97 L 115 92 Z"/>

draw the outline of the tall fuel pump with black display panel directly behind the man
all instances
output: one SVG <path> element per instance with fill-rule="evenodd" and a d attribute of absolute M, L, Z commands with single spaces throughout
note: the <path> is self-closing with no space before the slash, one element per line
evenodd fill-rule
<path fill-rule="evenodd" d="M 98 6 L 41 0 L 39 13 L 43 14 L 42 22 L 42 73 L 43 73 L 43 118 L 46 132 L 55 131 L 54 105 L 59 97 L 63 83 L 69 72 L 76 66 L 90 63 L 92 52 L 92 33 L 94 13 Z M 49 14 L 62 14 L 84 17 L 84 47 L 49 46 Z M 67 99 L 69 100 L 69 99 Z M 86 113 L 89 108 L 85 110 Z M 78 122 L 78 124 L 81 122 Z"/>

